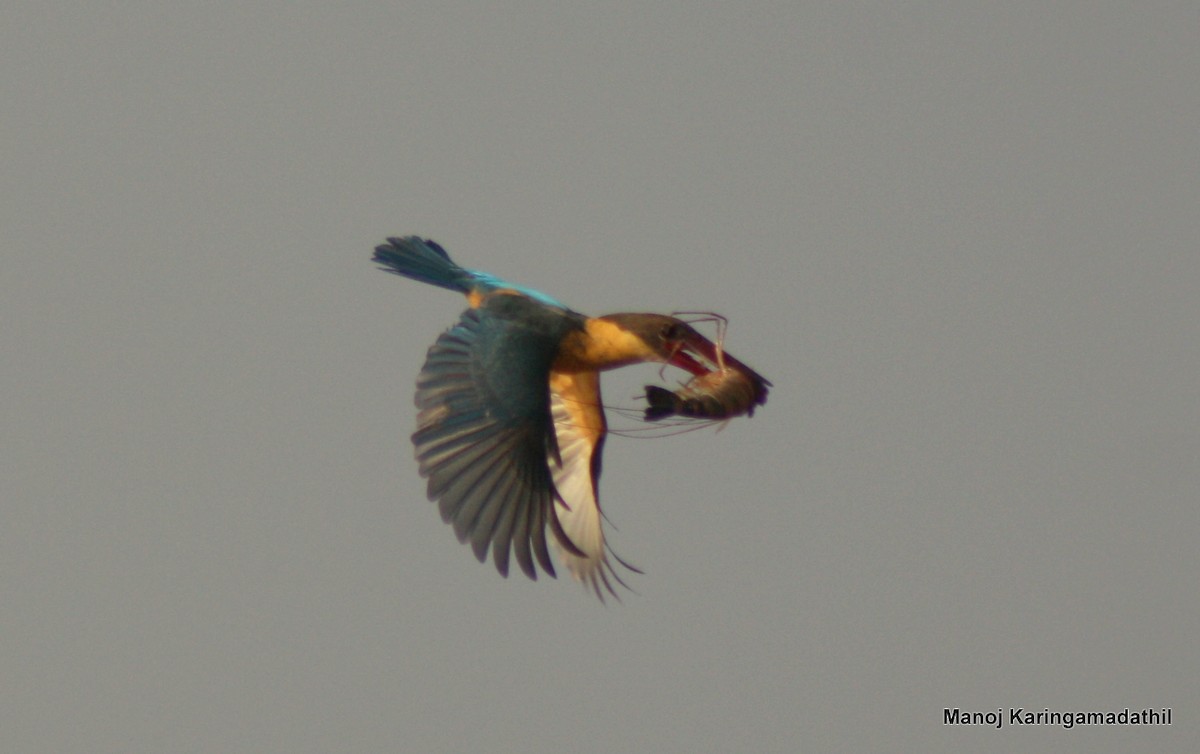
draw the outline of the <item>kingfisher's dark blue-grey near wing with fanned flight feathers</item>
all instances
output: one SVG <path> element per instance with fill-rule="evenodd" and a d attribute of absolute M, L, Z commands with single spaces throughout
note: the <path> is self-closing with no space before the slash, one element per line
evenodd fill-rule
<path fill-rule="evenodd" d="M 430 348 L 416 379 L 413 435 L 428 497 L 482 562 L 488 546 L 508 575 L 509 553 L 530 579 L 534 559 L 554 575 L 546 527 L 566 551 L 554 516 L 550 463 L 559 449 L 550 407 L 550 367 L 581 317 L 523 295 L 492 295 L 463 312 Z"/>

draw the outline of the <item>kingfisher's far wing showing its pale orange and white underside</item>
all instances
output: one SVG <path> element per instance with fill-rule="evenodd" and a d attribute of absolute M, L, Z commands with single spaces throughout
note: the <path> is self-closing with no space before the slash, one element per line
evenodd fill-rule
<path fill-rule="evenodd" d="M 626 586 L 612 568 L 604 538 L 598 483 L 607 425 L 600 402 L 596 372 L 554 372 L 550 377 L 550 405 L 560 462 L 550 463 L 558 490 L 554 511 L 563 533 L 576 551 L 558 545 L 558 557 L 576 581 L 592 587 L 601 600 L 600 586 L 613 597 L 612 581 Z M 613 558 L 637 570 L 616 555 Z"/>

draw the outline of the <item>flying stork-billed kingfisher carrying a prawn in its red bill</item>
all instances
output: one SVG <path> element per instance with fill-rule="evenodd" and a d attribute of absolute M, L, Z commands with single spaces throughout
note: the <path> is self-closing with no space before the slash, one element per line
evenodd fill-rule
<path fill-rule="evenodd" d="M 608 559 L 596 495 L 607 432 L 600 372 L 655 361 L 706 375 L 721 360 L 718 348 L 676 317 L 587 317 L 545 293 L 461 268 L 432 240 L 389 238 L 374 262 L 463 293 L 469 304 L 416 378 L 413 444 L 442 519 L 480 562 L 491 546 L 505 576 L 510 552 L 530 579 L 535 559 L 556 575 L 550 529 L 575 579 L 601 599 L 601 585 L 616 596 L 610 576 L 624 582 Z M 763 403 L 770 383 L 721 355 L 751 377 L 755 402 Z"/>

